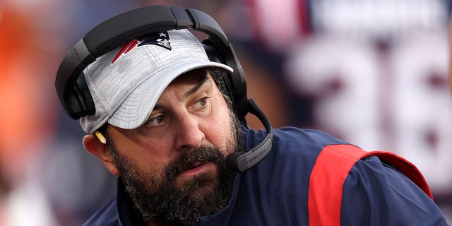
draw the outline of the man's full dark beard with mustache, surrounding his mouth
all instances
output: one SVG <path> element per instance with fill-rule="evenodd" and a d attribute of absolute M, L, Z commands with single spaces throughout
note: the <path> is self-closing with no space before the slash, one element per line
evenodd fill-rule
<path fill-rule="evenodd" d="M 243 143 L 239 122 L 232 117 L 231 137 L 227 150 L 241 151 Z M 152 172 L 140 174 L 129 160 L 119 156 L 110 146 L 114 163 L 121 172 L 126 192 L 144 220 L 169 223 L 169 225 L 196 225 L 204 215 L 212 215 L 225 208 L 232 196 L 235 173 L 225 166 L 225 155 L 215 147 L 201 146 L 179 156 L 165 169 L 161 179 Z M 218 167 L 218 177 L 201 174 L 186 182 L 182 189 L 174 186 L 176 177 L 196 162 L 213 162 Z"/>

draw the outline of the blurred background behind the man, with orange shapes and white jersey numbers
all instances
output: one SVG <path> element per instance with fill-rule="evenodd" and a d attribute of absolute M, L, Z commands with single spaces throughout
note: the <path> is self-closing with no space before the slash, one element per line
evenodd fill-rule
<path fill-rule="evenodd" d="M 273 127 L 402 155 L 452 222 L 451 0 L 0 0 L 0 225 L 81 225 L 114 194 L 54 78 L 97 23 L 150 4 L 218 20 Z"/>

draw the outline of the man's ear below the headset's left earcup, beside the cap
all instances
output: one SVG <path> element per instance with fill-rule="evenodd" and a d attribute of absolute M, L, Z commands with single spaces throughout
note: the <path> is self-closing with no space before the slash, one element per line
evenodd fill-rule
<path fill-rule="evenodd" d="M 108 146 L 99 141 L 99 139 L 90 134 L 83 137 L 83 146 L 91 154 L 95 155 L 115 176 L 119 176 L 119 170 L 114 166 L 112 155 L 110 155 Z"/>

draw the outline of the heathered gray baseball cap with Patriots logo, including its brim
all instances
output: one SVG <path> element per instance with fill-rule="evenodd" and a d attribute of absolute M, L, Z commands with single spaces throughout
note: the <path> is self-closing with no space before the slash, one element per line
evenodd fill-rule
<path fill-rule="evenodd" d="M 83 130 L 94 133 L 107 122 L 122 129 L 141 126 L 174 78 L 200 68 L 232 73 L 230 66 L 209 61 L 188 30 L 147 35 L 104 54 L 83 71 L 96 109 L 80 119 Z"/>

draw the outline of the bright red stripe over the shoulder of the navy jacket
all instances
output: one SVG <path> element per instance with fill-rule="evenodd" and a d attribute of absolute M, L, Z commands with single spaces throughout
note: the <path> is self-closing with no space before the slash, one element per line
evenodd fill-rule
<path fill-rule="evenodd" d="M 384 151 L 366 152 L 354 145 L 328 145 L 317 157 L 309 178 L 309 225 L 340 225 L 343 184 L 357 160 L 376 155 L 405 174 L 433 200 L 419 169 L 403 157 Z"/>

